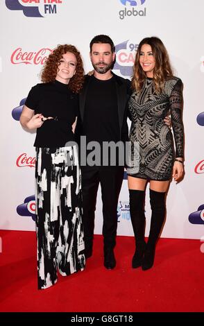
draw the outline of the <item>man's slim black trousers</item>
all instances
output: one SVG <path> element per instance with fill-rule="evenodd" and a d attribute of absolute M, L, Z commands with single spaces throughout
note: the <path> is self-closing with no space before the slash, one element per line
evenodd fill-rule
<path fill-rule="evenodd" d="M 81 166 L 85 248 L 92 248 L 96 197 L 101 185 L 103 243 L 114 248 L 117 234 L 117 203 L 124 178 L 124 166 Z"/>

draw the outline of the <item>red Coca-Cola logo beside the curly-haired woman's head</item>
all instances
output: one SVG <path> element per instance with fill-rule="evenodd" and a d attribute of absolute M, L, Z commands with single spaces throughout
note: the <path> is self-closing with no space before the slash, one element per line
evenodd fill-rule
<path fill-rule="evenodd" d="M 26 65 L 44 65 L 45 60 L 52 52 L 49 48 L 40 49 L 37 52 L 22 51 L 22 48 L 17 48 L 13 51 L 10 61 L 13 65 L 24 63 Z"/>

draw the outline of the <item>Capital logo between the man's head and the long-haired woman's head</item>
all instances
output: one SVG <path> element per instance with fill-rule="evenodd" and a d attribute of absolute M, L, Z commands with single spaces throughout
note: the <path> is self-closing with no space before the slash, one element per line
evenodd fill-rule
<path fill-rule="evenodd" d="M 138 45 L 139 44 L 135 44 L 129 40 L 117 44 L 115 46 L 116 61 L 113 69 L 119 70 L 123 76 L 132 76 L 133 64 Z"/>

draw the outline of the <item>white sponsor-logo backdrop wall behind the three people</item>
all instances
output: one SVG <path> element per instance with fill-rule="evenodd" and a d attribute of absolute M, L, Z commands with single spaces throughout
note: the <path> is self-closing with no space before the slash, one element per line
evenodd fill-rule
<path fill-rule="evenodd" d="M 98 34 L 116 46 L 114 73 L 131 78 L 144 37 L 164 42 L 184 84 L 185 179 L 171 183 L 162 237 L 204 240 L 203 0 L 1 0 L 1 220 L 3 230 L 35 230 L 35 132 L 19 123 L 29 90 L 40 83 L 46 57 L 58 44 L 74 44 L 85 71 L 89 44 Z M 151 210 L 146 194 L 148 234 Z M 95 233 L 102 231 L 101 193 Z M 119 196 L 118 234 L 133 235 L 126 175 Z"/>

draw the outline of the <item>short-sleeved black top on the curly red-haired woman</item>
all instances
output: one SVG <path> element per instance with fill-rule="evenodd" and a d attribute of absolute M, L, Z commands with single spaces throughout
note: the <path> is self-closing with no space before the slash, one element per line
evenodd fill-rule
<path fill-rule="evenodd" d="M 78 116 L 78 95 L 71 92 L 66 84 L 55 80 L 32 87 L 25 105 L 42 113 L 44 117 L 53 117 L 37 128 L 34 146 L 63 147 L 67 141 L 74 141 L 72 124 Z"/>

